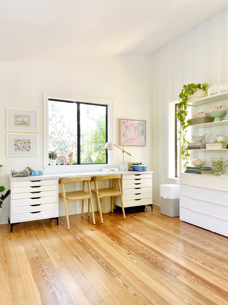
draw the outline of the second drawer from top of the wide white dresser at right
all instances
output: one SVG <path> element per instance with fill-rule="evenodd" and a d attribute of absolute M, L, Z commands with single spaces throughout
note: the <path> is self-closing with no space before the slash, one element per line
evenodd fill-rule
<path fill-rule="evenodd" d="M 228 190 L 228 188 L 227 188 Z M 192 185 L 181 185 L 181 196 L 191 197 L 228 206 L 228 192 L 209 188 L 199 188 Z"/>

